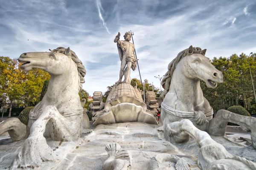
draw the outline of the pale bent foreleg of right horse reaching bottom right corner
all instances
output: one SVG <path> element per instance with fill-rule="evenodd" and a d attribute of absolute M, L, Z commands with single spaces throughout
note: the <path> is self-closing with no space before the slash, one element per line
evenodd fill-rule
<path fill-rule="evenodd" d="M 256 163 L 239 156 L 233 156 L 227 152 L 223 145 L 215 142 L 207 132 L 196 128 L 189 119 L 172 122 L 167 125 L 166 130 L 169 132 L 169 136 L 166 136 L 166 138 L 172 142 L 186 142 L 189 141 L 190 136 L 195 139 L 200 147 L 198 165 L 202 170 L 214 170 L 216 168 L 221 168 L 221 170 L 256 169 Z"/>

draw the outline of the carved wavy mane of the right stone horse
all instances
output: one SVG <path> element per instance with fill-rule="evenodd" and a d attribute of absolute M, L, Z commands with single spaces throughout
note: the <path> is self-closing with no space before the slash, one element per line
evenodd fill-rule
<path fill-rule="evenodd" d="M 164 77 L 161 81 L 161 85 L 163 86 L 164 91 L 161 94 L 160 98 L 164 99 L 164 97 L 168 93 L 168 91 L 170 89 L 171 81 L 172 81 L 172 74 L 173 74 L 173 71 L 175 70 L 178 62 L 180 62 L 181 59 L 183 59 L 184 57 L 186 57 L 188 55 L 192 55 L 192 54 L 205 55 L 205 52 L 206 52 L 206 49 L 202 50 L 199 47 L 192 47 L 192 45 L 190 45 L 189 48 L 179 52 L 177 57 L 175 59 L 173 59 L 172 62 L 169 63 L 168 71 L 166 72 L 166 74 L 164 75 Z"/>

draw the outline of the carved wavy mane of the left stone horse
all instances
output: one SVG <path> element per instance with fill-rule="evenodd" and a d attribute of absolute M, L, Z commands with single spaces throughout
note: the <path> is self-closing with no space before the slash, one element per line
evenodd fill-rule
<path fill-rule="evenodd" d="M 52 50 L 52 52 L 65 54 L 66 50 L 67 50 L 67 48 L 58 47 L 58 48 Z M 85 70 L 84 65 L 81 62 L 81 60 L 76 56 L 76 53 L 72 50 L 70 50 L 70 51 L 71 51 L 71 58 L 72 58 L 73 62 L 76 63 L 78 75 L 80 77 L 80 81 L 79 81 L 80 83 L 79 83 L 79 89 L 78 89 L 78 90 L 80 90 L 80 89 L 82 89 L 82 83 L 84 83 L 84 76 L 86 74 L 86 70 Z"/>

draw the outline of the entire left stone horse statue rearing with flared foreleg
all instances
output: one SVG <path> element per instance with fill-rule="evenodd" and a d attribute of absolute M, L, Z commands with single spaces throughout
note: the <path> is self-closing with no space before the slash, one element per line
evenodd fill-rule
<path fill-rule="evenodd" d="M 56 159 L 44 137 L 54 141 L 76 141 L 82 130 L 83 108 L 79 98 L 86 70 L 75 52 L 58 47 L 50 52 L 28 52 L 20 55 L 21 68 L 41 68 L 50 75 L 44 98 L 29 113 L 28 125 L 19 119 L 0 123 L 0 134 L 9 132 L 13 141 L 24 141 L 12 167 L 35 167 Z"/>

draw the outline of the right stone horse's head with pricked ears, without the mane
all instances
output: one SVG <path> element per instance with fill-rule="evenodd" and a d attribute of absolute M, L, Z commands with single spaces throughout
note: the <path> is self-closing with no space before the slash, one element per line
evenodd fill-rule
<path fill-rule="evenodd" d="M 208 88 L 216 88 L 218 82 L 223 82 L 223 74 L 211 64 L 205 52 L 206 49 L 193 48 L 191 45 L 180 63 L 183 65 L 181 70 L 187 78 L 201 79 Z"/>

